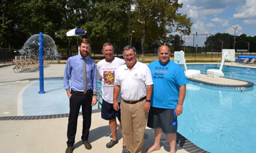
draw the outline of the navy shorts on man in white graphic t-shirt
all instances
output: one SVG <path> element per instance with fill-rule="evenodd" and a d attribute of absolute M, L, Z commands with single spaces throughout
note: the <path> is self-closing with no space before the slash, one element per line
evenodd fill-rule
<path fill-rule="evenodd" d="M 120 107 L 120 103 L 118 103 L 118 105 Z M 104 120 L 113 120 L 114 118 L 117 118 L 119 122 L 121 122 L 120 109 L 116 111 L 113 108 L 113 103 L 108 103 L 102 99 L 101 118 Z"/>

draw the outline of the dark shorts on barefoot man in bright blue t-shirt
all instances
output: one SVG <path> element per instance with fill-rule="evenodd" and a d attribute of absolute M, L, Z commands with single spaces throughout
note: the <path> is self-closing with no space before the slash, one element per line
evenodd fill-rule
<path fill-rule="evenodd" d="M 147 126 L 152 129 L 162 129 L 165 134 L 177 133 L 177 116 L 174 110 L 150 107 Z"/>

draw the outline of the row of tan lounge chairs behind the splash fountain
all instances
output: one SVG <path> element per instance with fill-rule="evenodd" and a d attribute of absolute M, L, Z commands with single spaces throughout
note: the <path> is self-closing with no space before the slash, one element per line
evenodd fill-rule
<path fill-rule="evenodd" d="M 13 63 L 15 65 L 13 68 L 15 73 L 37 71 L 39 69 L 39 63 L 32 58 L 23 61 L 13 61 Z"/>

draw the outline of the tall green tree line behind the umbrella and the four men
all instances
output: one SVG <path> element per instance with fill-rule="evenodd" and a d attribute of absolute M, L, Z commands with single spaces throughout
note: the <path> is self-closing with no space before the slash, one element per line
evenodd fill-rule
<path fill-rule="evenodd" d="M 21 48 L 31 35 L 50 35 L 57 48 L 71 48 L 76 37 L 70 29 L 87 31 L 93 48 L 110 41 L 122 49 L 132 44 L 139 50 L 175 41 L 179 31 L 189 35 L 192 22 L 180 14 L 178 0 L 2 0 L 0 48 Z M 67 52 L 70 53 L 69 51 Z"/>

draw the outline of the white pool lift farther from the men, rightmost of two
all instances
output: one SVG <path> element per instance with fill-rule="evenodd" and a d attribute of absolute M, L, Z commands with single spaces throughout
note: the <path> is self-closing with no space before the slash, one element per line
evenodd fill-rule
<path fill-rule="evenodd" d="M 221 67 L 220 69 L 208 69 L 207 70 L 207 76 L 218 78 L 218 77 L 224 77 L 224 73 L 222 71 L 224 62 L 231 61 L 234 62 L 236 60 L 235 58 L 235 50 L 231 49 L 223 49 L 222 50 L 222 58 L 221 58 Z"/>

